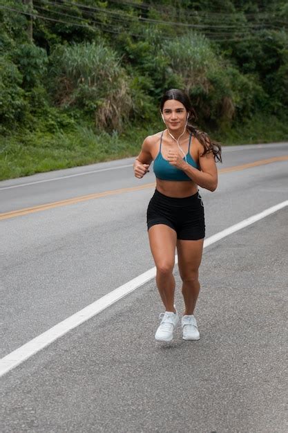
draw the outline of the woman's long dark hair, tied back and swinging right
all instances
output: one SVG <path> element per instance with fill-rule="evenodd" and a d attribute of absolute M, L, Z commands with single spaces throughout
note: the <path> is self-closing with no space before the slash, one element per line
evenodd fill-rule
<path fill-rule="evenodd" d="M 160 110 L 161 113 L 163 111 L 164 103 L 167 100 L 176 100 L 181 102 L 184 107 L 186 108 L 186 111 L 189 113 L 189 119 L 187 124 L 187 129 L 189 132 L 192 133 L 195 138 L 202 144 L 204 147 L 204 151 L 202 155 L 204 154 L 213 154 L 215 160 L 218 160 L 222 163 L 222 156 L 221 156 L 221 145 L 220 143 L 211 140 L 211 138 L 208 136 L 206 132 L 200 131 L 200 129 L 196 128 L 194 125 L 192 125 L 191 122 L 197 119 L 197 114 L 195 113 L 195 110 L 192 107 L 191 101 L 189 99 L 189 96 L 184 93 L 184 91 L 179 89 L 170 89 L 164 93 L 162 96 L 162 100 L 160 103 Z"/>

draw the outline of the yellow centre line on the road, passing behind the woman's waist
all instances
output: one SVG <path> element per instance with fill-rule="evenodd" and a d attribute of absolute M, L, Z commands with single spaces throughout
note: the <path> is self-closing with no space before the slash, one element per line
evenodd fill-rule
<path fill-rule="evenodd" d="M 269 158 L 269 159 L 262 159 L 262 160 L 255 161 L 254 163 L 236 165 L 235 167 L 222 168 L 222 169 L 219 169 L 218 172 L 219 173 L 238 172 L 238 171 L 243 170 L 243 169 L 247 169 L 247 168 L 251 168 L 251 167 L 257 167 L 258 165 L 276 163 L 277 161 L 285 161 L 285 160 L 288 160 L 288 155 L 276 156 L 276 157 Z M 88 194 L 86 196 L 74 197 L 73 199 L 55 201 L 54 203 L 46 203 L 45 205 L 34 206 L 32 208 L 12 210 L 12 212 L 6 212 L 6 213 L 0 214 L 0 220 L 1 219 L 14 218 L 15 216 L 32 214 L 34 212 L 41 212 L 42 210 L 58 208 L 59 206 L 74 205 L 75 203 L 80 203 L 81 201 L 99 199 L 100 197 L 112 196 L 115 194 L 122 194 L 123 192 L 146 190 L 147 188 L 151 188 L 151 187 L 155 187 L 155 182 L 146 183 L 145 185 L 140 185 L 137 187 L 128 187 L 128 188 L 120 188 L 119 190 L 113 190 L 113 191 L 97 192 L 95 194 Z"/>

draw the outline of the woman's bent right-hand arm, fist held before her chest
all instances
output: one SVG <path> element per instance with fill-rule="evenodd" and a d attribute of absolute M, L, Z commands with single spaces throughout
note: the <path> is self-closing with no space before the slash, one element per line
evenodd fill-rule
<path fill-rule="evenodd" d="M 169 163 L 183 170 L 183 172 L 185 172 L 186 175 L 200 187 L 209 191 L 215 191 L 218 185 L 218 173 L 215 159 L 212 153 L 201 156 L 202 151 L 203 147 L 198 142 L 199 165 L 201 171 L 186 163 L 178 152 L 169 152 L 170 155 L 168 156 L 168 160 Z"/>

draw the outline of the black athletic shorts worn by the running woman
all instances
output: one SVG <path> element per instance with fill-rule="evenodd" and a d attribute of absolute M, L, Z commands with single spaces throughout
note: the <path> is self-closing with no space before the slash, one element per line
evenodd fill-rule
<path fill-rule="evenodd" d="M 177 233 L 177 239 L 203 239 L 205 221 L 200 194 L 177 199 L 155 190 L 147 209 L 148 230 L 155 224 L 169 225 Z"/>

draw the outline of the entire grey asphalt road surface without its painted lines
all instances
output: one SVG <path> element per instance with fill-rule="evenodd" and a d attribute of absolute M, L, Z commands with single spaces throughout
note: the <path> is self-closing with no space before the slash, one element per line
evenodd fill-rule
<path fill-rule="evenodd" d="M 288 143 L 233 147 L 222 167 L 282 155 Z M 1 182 L 1 212 L 140 185 L 130 164 Z M 222 173 L 216 192 L 201 192 L 209 237 L 287 200 L 288 161 Z M 154 266 L 152 194 L 0 221 L 1 356 Z M 171 344 L 155 343 L 162 306 L 151 281 L 1 378 L 1 431 L 287 432 L 287 222 L 286 207 L 204 250 L 200 341 L 178 328 Z"/>

